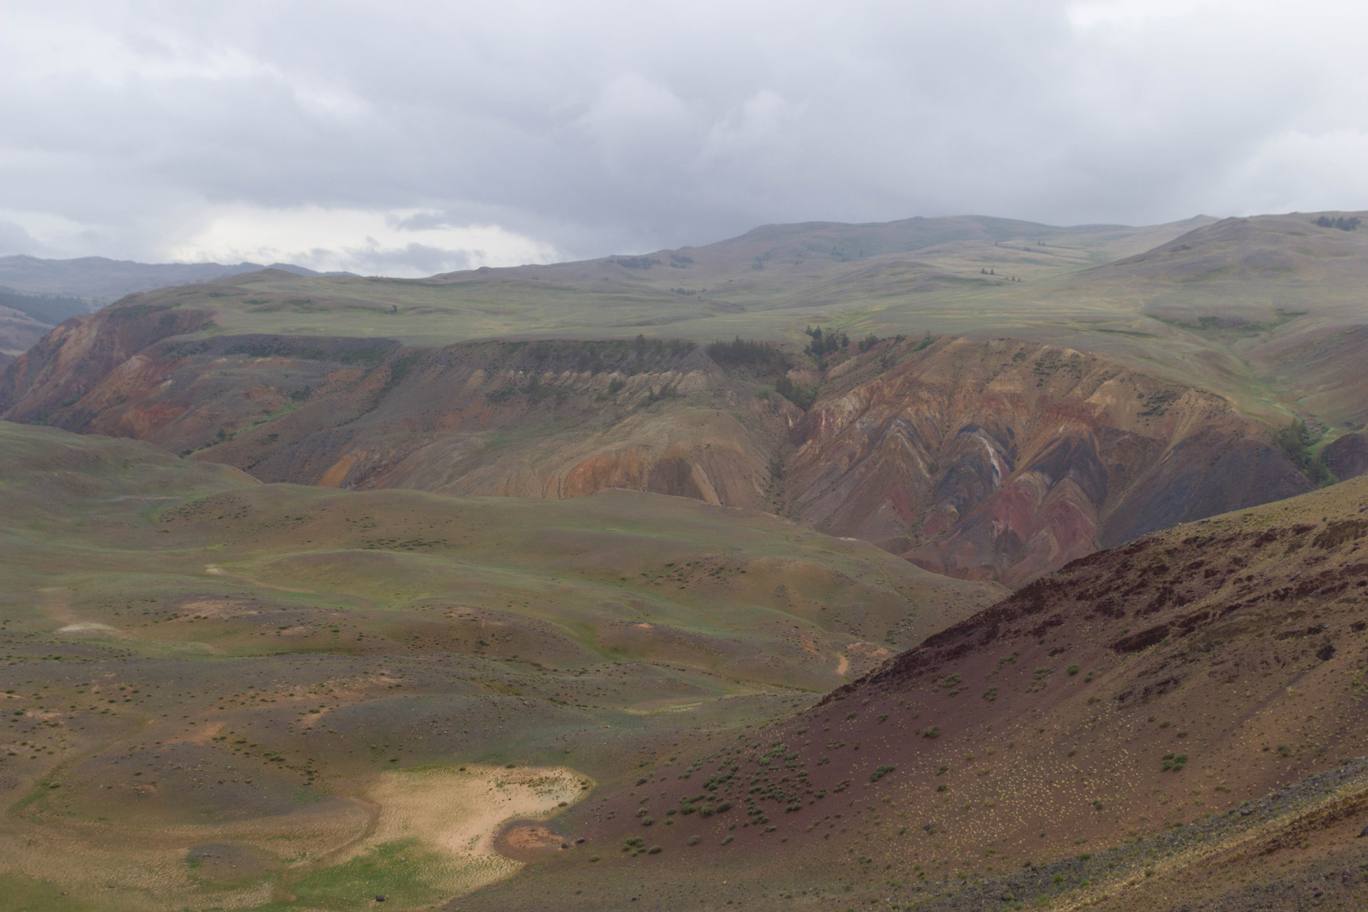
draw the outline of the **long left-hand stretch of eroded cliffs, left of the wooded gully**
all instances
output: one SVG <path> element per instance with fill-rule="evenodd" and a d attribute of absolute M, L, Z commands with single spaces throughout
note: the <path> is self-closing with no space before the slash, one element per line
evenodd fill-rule
<path fill-rule="evenodd" d="M 85 357 L 107 320 L 25 354 L 7 375 L 7 417 L 144 439 L 271 481 L 538 498 L 631 488 L 774 509 L 770 466 L 802 414 L 692 343 L 153 338 Z"/>

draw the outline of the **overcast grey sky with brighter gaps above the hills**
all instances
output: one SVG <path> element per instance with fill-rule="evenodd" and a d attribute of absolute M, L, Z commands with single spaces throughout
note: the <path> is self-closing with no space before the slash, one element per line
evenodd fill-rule
<path fill-rule="evenodd" d="M 421 276 L 1368 209 L 1368 4 L 0 0 L 0 254 Z"/>

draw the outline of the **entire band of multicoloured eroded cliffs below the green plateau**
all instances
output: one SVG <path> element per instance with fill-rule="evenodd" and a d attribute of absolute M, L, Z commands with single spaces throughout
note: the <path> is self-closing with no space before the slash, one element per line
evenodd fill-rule
<path fill-rule="evenodd" d="M 68 321 L 10 365 L 0 406 L 264 481 L 757 507 L 1010 585 L 1309 488 L 1219 397 L 1010 339 L 851 349 L 795 373 L 825 392 L 804 413 L 692 343 L 185 338 L 202 321 Z"/>

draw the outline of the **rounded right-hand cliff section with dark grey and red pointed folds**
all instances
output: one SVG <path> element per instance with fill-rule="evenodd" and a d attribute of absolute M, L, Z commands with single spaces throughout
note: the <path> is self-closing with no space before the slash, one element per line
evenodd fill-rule
<path fill-rule="evenodd" d="M 1309 489 L 1224 399 L 1015 340 L 941 342 L 817 402 L 795 439 L 803 522 L 1010 585 Z"/>

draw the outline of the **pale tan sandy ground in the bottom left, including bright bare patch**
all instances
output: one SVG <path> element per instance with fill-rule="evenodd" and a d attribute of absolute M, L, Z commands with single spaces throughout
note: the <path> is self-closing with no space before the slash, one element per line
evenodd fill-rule
<path fill-rule="evenodd" d="M 440 859 L 420 879 L 442 898 L 510 876 L 521 866 L 494 849 L 501 824 L 549 818 L 594 782 L 565 767 L 447 766 L 383 773 L 339 803 L 223 824 L 119 826 L 70 820 L 0 826 L 0 876 L 59 883 L 73 898 L 127 912 L 250 908 L 283 898 L 301 876 L 394 841 L 416 841 Z M 250 846 L 275 871 L 215 885 L 186 863 L 192 846 Z M 416 846 L 417 848 L 417 846 Z M 0 907 L 4 904 L 0 902 Z"/>

